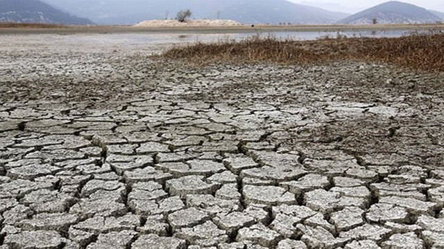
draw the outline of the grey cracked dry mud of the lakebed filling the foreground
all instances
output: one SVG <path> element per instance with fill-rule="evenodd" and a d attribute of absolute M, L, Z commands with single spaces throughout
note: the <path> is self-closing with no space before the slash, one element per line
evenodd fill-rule
<path fill-rule="evenodd" d="M 0 53 L 1 249 L 444 247 L 442 73 L 31 38 Z"/>

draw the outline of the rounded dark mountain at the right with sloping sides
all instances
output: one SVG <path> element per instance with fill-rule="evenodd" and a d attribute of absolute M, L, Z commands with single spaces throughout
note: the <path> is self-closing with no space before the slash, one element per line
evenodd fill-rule
<path fill-rule="evenodd" d="M 377 19 L 378 24 L 434 24 L 436 21 L 443 21 L 425 8 L 400 1 L 388 1 L 346 17 L 338 23 L 372 24 L 373 19 Z"/>

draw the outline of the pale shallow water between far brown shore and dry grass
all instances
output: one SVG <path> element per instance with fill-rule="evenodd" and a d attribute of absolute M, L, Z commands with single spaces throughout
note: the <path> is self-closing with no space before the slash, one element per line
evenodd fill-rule
<path fill-rule="evenodd" d="M 412 30 L 397 31 L 348 31 L 348 32 L 264 32 L 264 33 L 72 33 L 72 34 L 7 34 L 0 36 L 0 52 L 10 53 L 27 47 L 35 53 L 70 53 L 70 50 L 81 48 L 83 53 L 116 53 L 117 51 L 133 55 L 150 55 L 161 53 L 171 46 L 194 44 L 196 42 L 219 42 L 241 40 L 260 35 L 280 39 L 314 40 L 321 37 L 400 37 Z M 17 40 L 21 47 L 17 48 Z M 51 42 L 49 42 L 51 41 Z M 0 58 L 1 58 L 0 53 Z M 7 55 L 5 55 L 7 56 Z"/>

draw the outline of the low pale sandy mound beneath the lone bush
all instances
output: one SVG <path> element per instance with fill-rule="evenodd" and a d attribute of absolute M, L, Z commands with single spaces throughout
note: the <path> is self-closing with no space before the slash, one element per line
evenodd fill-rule
<path fill-rule="evenodd" d="M 232 20 L 189 20 L 180 22 L 177 20 L 149 20 L 136 24 L 135 27 L 220 27 L 241 26 L 242 24 Z"/>

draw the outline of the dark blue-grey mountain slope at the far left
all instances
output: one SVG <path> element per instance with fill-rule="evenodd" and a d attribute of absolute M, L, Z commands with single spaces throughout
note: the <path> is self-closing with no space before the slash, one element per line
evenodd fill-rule
<path fill-rule="evenodd" d="M 89 19 L 75 17 L 39 0 L 0 0 L 0 22 L 93 24 Z"/>

